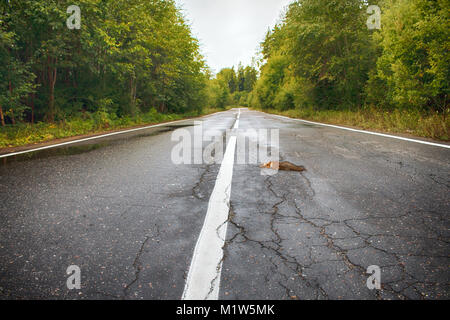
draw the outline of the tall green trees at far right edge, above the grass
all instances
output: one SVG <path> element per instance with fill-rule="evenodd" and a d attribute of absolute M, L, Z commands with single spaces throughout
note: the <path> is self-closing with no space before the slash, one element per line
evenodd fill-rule
<path fill-rule="evenodd" d="M 372 104 L 417 110 L 448 108 L 448 0 L 386 0 L 377 71 L 367 87 Z"/>

